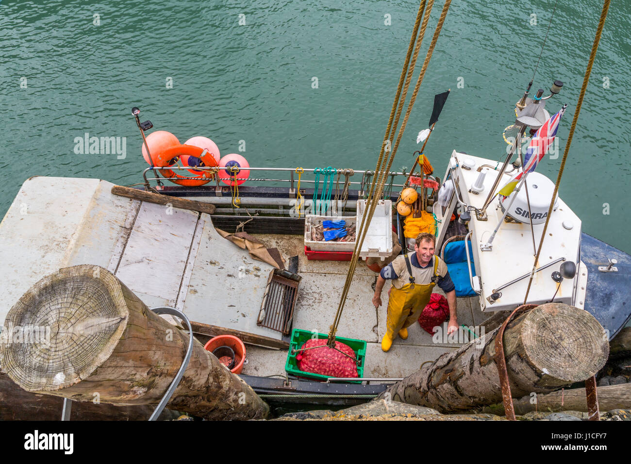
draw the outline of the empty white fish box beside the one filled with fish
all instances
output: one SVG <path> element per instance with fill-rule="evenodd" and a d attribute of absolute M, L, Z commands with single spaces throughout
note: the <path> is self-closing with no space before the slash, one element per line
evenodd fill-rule
<path fill-rule="evenodd" d="M 366 212 L 366 200 L 357 200 L 357 223 L 362 223 Z M 359 227 L 359 226 L 358 226 Z M 366 238 L 363 239 L 361 258 L 381 258 L 383 261 L 392 254 L 392 200 L 379 200 L 370 220 Z"/>

